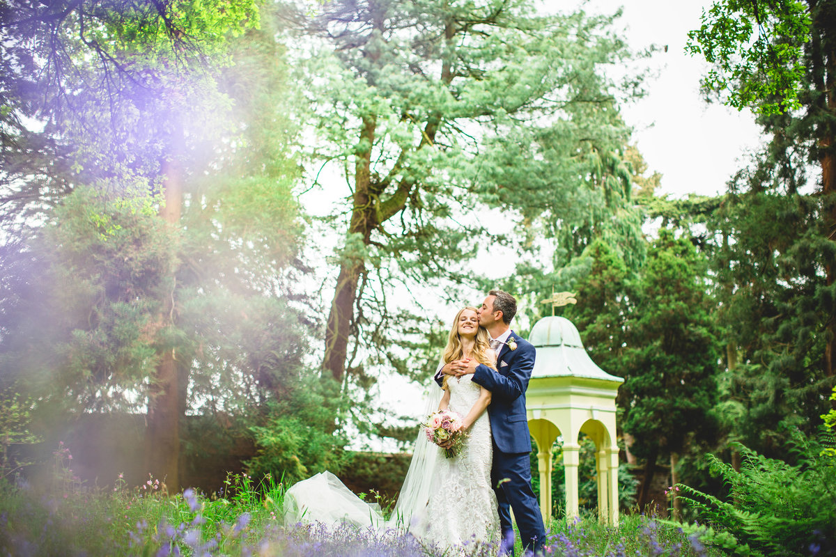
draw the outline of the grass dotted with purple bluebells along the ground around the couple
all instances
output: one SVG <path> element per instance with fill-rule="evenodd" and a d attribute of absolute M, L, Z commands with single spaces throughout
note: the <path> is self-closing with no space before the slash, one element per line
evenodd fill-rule
<path fill-rule="evenodd" d="M 454 550 L 428 546 L 394 530 L 284 524 L 284 486 L 269 477 L 254 483 L 246 474 L 232 474 L 218 494 L 198 494 L 193 489 L 166 494 L 152 478 L 134 489 L 121 479 L 110 491 L 86 489 L 65 465 L 65 456 L 58 458 L 57 480 L 48 491 L 0 482 L 0 555 L 487 557 L 496 553 L 486 546 Z M 555 520 L 550 527 L 548 555 L 707 555 L 675 525 L 638 514 L 623 516 L 618 528 L 598 524 L 592 517 Z"/>

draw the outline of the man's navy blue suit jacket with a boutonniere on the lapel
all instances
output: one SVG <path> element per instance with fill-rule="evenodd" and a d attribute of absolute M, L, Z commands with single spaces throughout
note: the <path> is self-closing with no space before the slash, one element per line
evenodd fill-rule
<path fill-rule="evenodd" d="M 517 342 L 516 350 L 508 347 L 511 338 Z M 479 364 L 473 374 L 473 382 L 492 394 L 487 413 L 493 441 L 503 453 L 531 452 L 525 392 L 536 356 L 531 342 L 512 331 L 497 354 L 497 371 Z"/>

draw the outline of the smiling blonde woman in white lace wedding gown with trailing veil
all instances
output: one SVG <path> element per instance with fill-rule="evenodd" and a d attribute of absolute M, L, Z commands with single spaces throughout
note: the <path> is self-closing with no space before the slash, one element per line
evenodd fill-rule
<path fill-rule="evenodd" d="M 477 309 L 462 308 L 456 313 L 442 362 L 472 358 L 496 368 L 497 356 L 489 346 L 487 331 L 479 327 Z M 432 406 L 426 409 L 426 413 L 449 409 L 463 417 L 460 431 L 466 438 L 461 449 L 456 456 L 445 458 L 441 448 L 426 440 L 422 428 L 388 521 L 376 505 L 365 504 L 334 474 L 324 472 L 288 489 L 284 497 L 288 524 L 349 522 L 405 529 L 426 543 L 446 548 L 474 542 L 498 544 L 497 497 L 491 486 L 491 424 L 485 412 L 491 392 L 472 382 L 472 377 L 445 376 L 441 402 L 430 397 Z"/>

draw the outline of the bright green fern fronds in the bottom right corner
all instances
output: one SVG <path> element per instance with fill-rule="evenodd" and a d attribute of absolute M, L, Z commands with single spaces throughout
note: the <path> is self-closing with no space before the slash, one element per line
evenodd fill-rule
<path fill-rule="evenodd" d="M 682 499 L 701 523 L 691 526 L 702 543 L 735 555 L 833 554 L 836 551 L 836 458 L 823 453 L 829 433 L 816 441 L 794 433 L 788 444 L 796 463 L 766 458 L 740 445 L 737 471 L 708 455 L 728 500 L 681 485 Z"/>

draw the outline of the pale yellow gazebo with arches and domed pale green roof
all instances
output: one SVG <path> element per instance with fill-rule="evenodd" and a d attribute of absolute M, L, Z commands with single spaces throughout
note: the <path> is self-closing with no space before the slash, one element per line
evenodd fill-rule
<path fill-rule="evenodd" d="M 528 428 L 538 446 L 540 511 L 552 509 L 552 445 L 563 437 L 566 469 L 566 515 L 578 516 L 578 436 L 595 443 L 599 519 L 619 520 L 619 448 L 615 444 L 615 395 L 624 382 L 595 365 L 584 350 L 578 329 L 568 319 L 543 317 L 528 338 L 537 360 L 528 383 Z"/>

